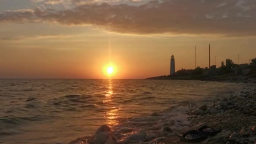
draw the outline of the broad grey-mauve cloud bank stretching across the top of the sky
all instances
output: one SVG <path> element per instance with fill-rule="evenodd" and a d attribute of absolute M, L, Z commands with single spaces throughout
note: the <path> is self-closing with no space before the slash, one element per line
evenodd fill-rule
<path fill-rule="evenodd" d="M 0 23 L 86 24 L 111 32 L 141 35 L 256 36 L 254 0 L 152 0 L 139 6 L 72 1 L 77 3 L 72 9 L 5 11 L 0 14 Z"/>

